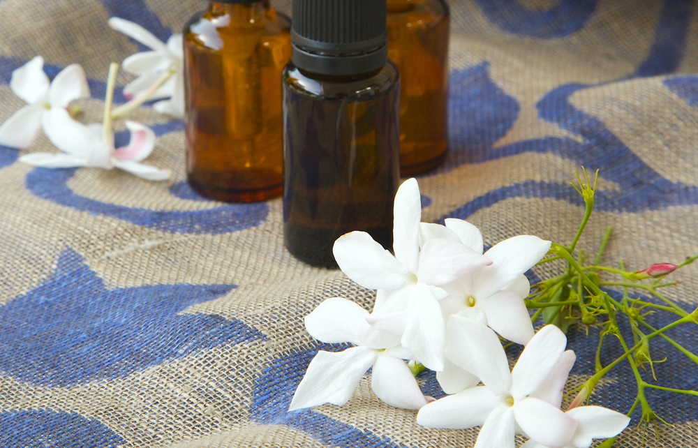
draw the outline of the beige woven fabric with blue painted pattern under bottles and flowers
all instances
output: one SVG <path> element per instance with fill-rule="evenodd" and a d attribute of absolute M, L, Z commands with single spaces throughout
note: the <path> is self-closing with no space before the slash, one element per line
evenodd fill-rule
<path fill-rule="evenodd" d="M 276 6 L 288 12 L 289 3 Z M 423 220 L 466 218 L 486 244 L 516 234 L 568 242 L 584 214 L 569 182 L 585 165 L 600 168 L 601 181 L 581 248 L 595 251 L 611 225 L 607 263 L 641 269 L 697 253 L 698 1 L 450 4 L 450 153 L 419 179 Z M 36 54 L 51 77 L 84 66 L 93 99 L 80 103 L 82 120 L 99 121 L 108 64 L 144 50 L 107 19 L 166 40 L 204 6 L 0 0 L 0 122 L 23 105 L 8 87 L 12 71 Z M 131 79 L 121 74 L 119 85 Z M 151 107 L 133 119 L 156 131 L 148 163 L 172 168 L 172 181 L 17 162 L 55 151 L 43 136 L 28 151 L 0 147 L 0 447 L 473 445 L 477 431 L 419 427 L 415 412 L 378 401 L 365 378 L 343 408 L 287 413 L 307 364 L 328 349 L 306 333 L 304 315 L 335 296 L 370 308 L 373 292 L 292 258 L 281 200 L 222 204 L 193 193 L 182 121 Z M 533 275 L 559 269 L 545 266 Z M 671 297 L 690 311 L 698 266 L 676 279 Z M 697 330 L 669 334 L 698 352 Z M 593 373 L 597 331 L 569 340 L 571 389 Z M 662 344 L 660 384 L 698 389 L 697 366 Z M 604 363 L 619 354 L 608 347 Z M 627 364 L 621 370 L 628 375 L 612 373 L 594 403 L 628 410 L 634 382 Z M 443 395 L 433 375 L 419 381 Z M 644 437 L 635 415 L 618 446 L 698 447 L 697 398 L 648 398 L 673 426 Z"/>

